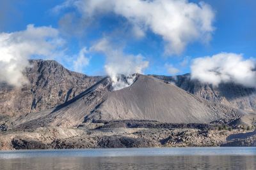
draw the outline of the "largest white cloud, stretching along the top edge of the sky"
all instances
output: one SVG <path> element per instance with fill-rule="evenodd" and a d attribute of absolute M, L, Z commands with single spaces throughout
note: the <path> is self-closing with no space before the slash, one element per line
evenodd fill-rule
<path fill-rule="evenodd" d="M 126 18 L 137 37 L 152 31 L 166 42 L 165 52 L 180 54 L 188 43 L 207 43 L 214 31 L 214 12 L 206 3 L 187 0 L 67 0 L 54 11 L 73 7 L 84 18 L 102 13 L 115 13 Z"/>

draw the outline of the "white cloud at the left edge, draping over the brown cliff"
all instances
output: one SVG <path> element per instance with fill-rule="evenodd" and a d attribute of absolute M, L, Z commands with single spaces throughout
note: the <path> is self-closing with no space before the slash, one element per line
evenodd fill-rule
<path fill-rule="evenodd" d="M 54 57 L 64 41 L 57 29 L 28 25 L 26 30 L 0 33 L 0 81 L 20 87 L 31 56 Z"/>

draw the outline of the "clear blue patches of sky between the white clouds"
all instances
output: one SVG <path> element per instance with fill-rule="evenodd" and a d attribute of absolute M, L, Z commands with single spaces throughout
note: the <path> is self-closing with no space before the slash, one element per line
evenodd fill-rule
<path fill-rule="evenodd" d="M 15 32 L 26 29 L 28 24 L 35 24 L 35 27 L 49 26 L 59 29 L 61 36 L 67 41 L 67 55 L 75 55 L 83 46 L 90 48 L 93 43 L 102 37 L 110 37 L 111 40 L 122 46 L 124 53 L 137 55 L 140 53 L 149 61 L 149 66 L 145 69 L 145 74 L 165 74 L 170 75 L 166 69 L 166 64 L 179 69 L 179 73 L 189 73 L 189 63 L 181 66 L 184 60 L 193 60 L 196 57 L 214 55 L 220 52 L 243 53 L 244 58 L 255 57 L 256 47 L 256 1 L 254 0 L 223 0 L 204 2 L 212 7 L 215 13 L 215 30 L 212 32 L 212 39 L 207 44 L 193 41 L 179 54 L 164 54 L 164 41 L 161 36 L 153 31 L 146 31 L 146 36 L 141 39 L 130 37 L 127 32 L 130 30 L 124 17 L 106 13 L 103 17 L 97 17 L 93 24 L 86 23 L 86 26 L 79 28 L 74 34 L 70 30 L 63 31 L 61 19 L 72 13 L 74 18 L 81 18 L 73 8 L 66 8 L 58 13 L 52 9 L 64 1 L 56 0 L 0 0 L 0 31 Z M 198 4 L 200 1 L 189 1 Z M 79 22 L 79 21 L 77 21 Z M 74 20 L 76 24 L 76 20 Z M 74 29 L 77 25 L 74 24 Z M 116 29 L 122 27 L 122 30 Z M 70 34 L 68 34 L 70 33 Z M 125 39 L 125 41 L 124 41 Z M 90 58 L 88 66 L 83 67 L 83 73 L 89 75 L 105 74 L 104 64 L 106 57 L 102 53 L 89 52 L 86 54 Z M 62 61 L 61 64 L 72 69 L 70 62 Z"/>

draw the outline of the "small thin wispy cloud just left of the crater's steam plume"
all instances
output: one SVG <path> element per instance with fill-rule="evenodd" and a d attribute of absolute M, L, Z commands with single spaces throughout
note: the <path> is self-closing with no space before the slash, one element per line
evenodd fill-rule
<path fill-rule="evenodd" d="M 75 57 L 76 60 L 73 61 L 73 68 L 74 71 L 77 71 L 79 73 L 83 72 L 84 67 L 89 65 L 90 62 L 90 58 L 86 57 L 86 53 L 88 53 L 88 51 L 86 50 L 86 48 L 82 48 L 79 52 L 79 54 Z"/>

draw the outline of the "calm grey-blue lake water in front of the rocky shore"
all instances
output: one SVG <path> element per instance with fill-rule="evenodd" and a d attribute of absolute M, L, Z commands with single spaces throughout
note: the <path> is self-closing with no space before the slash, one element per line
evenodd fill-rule
<path fill-rule="evenodd" d="M 0 169 L 256 169 L 256 148 L 17 150 Z"/>

